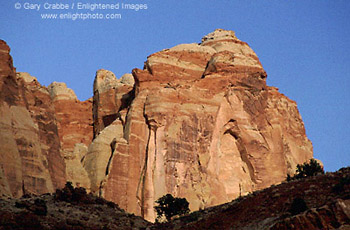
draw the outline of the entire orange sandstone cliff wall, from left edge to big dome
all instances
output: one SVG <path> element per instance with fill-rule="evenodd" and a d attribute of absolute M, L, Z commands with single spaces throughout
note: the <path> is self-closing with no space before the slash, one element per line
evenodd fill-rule
<path fill-rule="evenodd" d="M 296 103 L 266 85 L 233 31 L 152 54 L 121 80 L 98 70 L 85 102 L 64 83 L 16 76 L 0 49 L 4 195 L 20 196 L 23 178 L 35 193 L 70 180 L 154 220 L 166 193 L 197 210 L 279 183 L 312 158 Z"/>

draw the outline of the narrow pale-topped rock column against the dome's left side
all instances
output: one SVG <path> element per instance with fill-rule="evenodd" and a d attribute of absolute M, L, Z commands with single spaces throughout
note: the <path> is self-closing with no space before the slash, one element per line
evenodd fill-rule
<path fill-rule="evenodd" d="M 130 74 L 118 80 L 111 71 L 97 71 L 93 97 L 94 140 L 83 161 L 91 180 L 91 191 L 125 205 L 126 193 L 122 191 L 128 190 L 128 177 L 123 172 L 130 162 L 124 129 L 126 114 L 134 98 L 133 85 Z M 110 181 L 111 174 L 117 179 Z"/>

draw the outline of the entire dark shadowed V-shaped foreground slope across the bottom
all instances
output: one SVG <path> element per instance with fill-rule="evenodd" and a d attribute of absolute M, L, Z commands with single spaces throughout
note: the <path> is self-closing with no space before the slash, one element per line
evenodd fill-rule
<path fill-rule="evenodd" d="M 63 195 L 64 194 L 64 195 Z M 222 205 L 151 224 L 80 188 L 0 199 L 0 229 L 338 229 L 350 228 L 350 168 L 284 182 Z M 294 206 L 303 200 L 305 209 Z M 292 208 L 294 207 L 294 208 Z"/>

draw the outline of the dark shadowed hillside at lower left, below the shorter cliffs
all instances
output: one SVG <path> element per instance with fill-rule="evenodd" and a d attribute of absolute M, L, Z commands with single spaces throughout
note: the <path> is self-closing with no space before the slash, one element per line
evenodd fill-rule
<path fill-rule="evenodd" d="M 110 201 L 78 192 L 73 194 L 74 198 L 65 196 L 65 199 L 57 193 L 0 199 L 0 228 L 130 230 L 149 229 L 151 226 Z"/>

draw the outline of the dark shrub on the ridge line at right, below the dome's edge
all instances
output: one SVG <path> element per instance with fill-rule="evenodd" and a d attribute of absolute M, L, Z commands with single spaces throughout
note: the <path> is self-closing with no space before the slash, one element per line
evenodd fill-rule
<path fill-rule="evenodd" d="M 294 176 L 288 174 L 287 181 L 316 176 L 317 174 L 324 174 L 324 170 L 315 159 L 310 159 L 309 163 L 298 164 L 296 174 Z"/>

